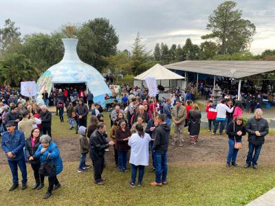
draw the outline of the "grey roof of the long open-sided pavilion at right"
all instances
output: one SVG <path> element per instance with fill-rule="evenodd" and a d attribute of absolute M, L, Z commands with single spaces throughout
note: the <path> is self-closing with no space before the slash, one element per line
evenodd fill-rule
<path fill-rule="evenodd" d="M 244 78 L 274 71 L 275 61 L 188 60 L 164 65 L 164 67 L 228 78 Z"/>

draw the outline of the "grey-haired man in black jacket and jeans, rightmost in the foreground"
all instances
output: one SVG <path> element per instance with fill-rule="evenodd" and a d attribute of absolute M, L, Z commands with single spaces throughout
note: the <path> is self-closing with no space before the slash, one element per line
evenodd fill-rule
<path fill-rule="evenodd" d="M 265 135 L 268 134 L 269 126 L 266 119 L 263 119 L 263 111 L 257 108 L 254 112 L 255 117 L 248 120 L 245 130 L 248 133 L 248 157 L 246 158 L 245 168 L 249 168 L 251 163 L 254 169 L 258 168 L 257 161 L 261 148 L 265 143 Z M 254 152 L 255 151 L 255 152 Z M 254 156 L 253 156 L 254 152 Z"/>

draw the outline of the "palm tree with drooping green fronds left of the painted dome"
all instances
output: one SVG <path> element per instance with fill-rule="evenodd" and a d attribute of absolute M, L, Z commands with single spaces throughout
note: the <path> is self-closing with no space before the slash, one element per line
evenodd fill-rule
<path fill-rule="evenodd" d="M 0 62 L 0 84 L 8 84 L 11 87 L 20 87 L 20 82 L 37 80 L 38 70 L 32 62 L 23 54 L 5 55 Z"/>

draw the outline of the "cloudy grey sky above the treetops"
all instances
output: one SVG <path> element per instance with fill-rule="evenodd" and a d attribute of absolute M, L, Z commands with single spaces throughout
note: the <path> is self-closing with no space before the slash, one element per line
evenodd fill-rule
<path fill-rule="evenodd" d="M 275 49 L 275 1 L 239 0 L 243 18 L 256 25 L 251 52 Z M 183 45 L 186 38 L 201 42 L 208 16 L 221 0 L 0 0 L 0 26 L 15 21 L 22 34 L 54 32 L 66 23 L 107 17 L 120 36 L 118 49 L 130 49 L 137 32 L 148 50 L 155 43 Z"/>

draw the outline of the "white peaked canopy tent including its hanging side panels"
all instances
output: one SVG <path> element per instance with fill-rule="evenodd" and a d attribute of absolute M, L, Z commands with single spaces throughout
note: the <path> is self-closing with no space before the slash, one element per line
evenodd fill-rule
<path fill-rule="evenodd" d="M 157 80 L 157 85 L 162 85 L 164 88 L 170 89 L 173 87 L 180 87 L 181 89 L 185 89 L 186 87 L 186 81 L 183 76 L 180 76 L 159 64 L 133 78 L 133 85 L 140 88 L 146 87 L 146 84 L 144 83 L 146 77 L 154 77 L 155 80 Z"/>

